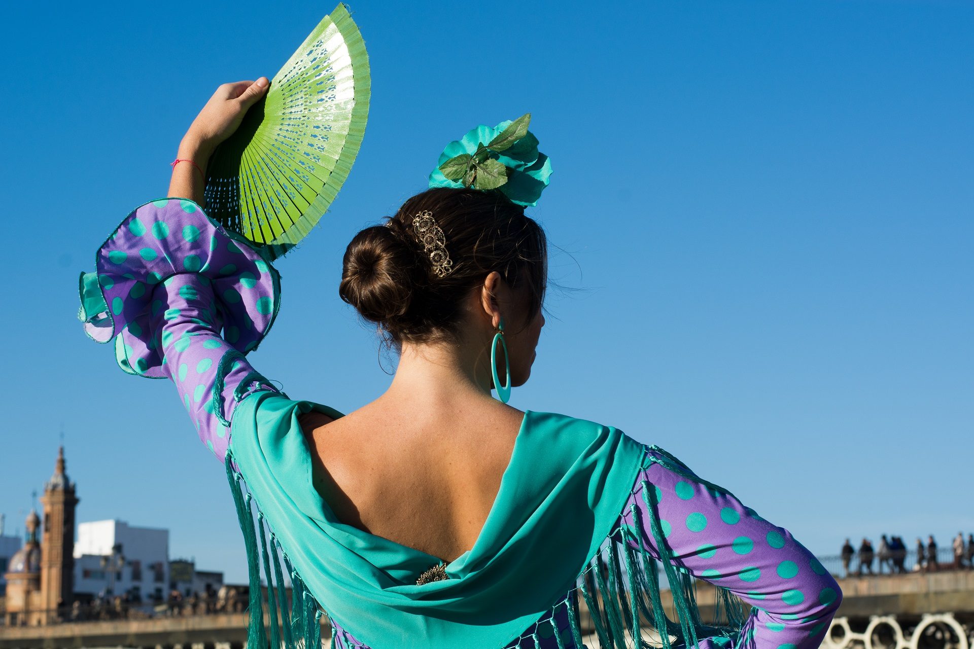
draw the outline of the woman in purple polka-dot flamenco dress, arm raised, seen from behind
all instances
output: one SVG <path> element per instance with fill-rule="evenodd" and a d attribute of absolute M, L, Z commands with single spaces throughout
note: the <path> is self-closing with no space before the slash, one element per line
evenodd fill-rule
<path fill-rule="evenodd" d="M 349 243 L 339 293 L 399 352 L 385 392 L 343 414 L 251 365 L 279 274 L 203 205 L 210 155 L 268 87 L 217 90 L 169 198 L 131 211 L 81 287 L 91 337 L 171 379 L 224 465 L 252 646 L 320 643 L 326 617 L 342 649 L 817 647 L 841 591 L 787 529 L 612 426 L 506 404 L 544 326 L 525 207 L 551 167 L 528 116 L 451 143 L 430 189 Z M 694 578 L 722 621 L 701 621 Z"/>

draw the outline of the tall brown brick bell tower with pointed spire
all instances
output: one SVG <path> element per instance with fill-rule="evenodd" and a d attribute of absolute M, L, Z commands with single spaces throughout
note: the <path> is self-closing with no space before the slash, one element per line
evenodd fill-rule
<path fill-rule="evenodd" d="M 55 473 L 44 486 L 44 542 L 41 599 L 44 624 L 65 613 L 74 596 L 74 510 L 79 500 L 64 473 L 64 447 L 57 450 Z"/>

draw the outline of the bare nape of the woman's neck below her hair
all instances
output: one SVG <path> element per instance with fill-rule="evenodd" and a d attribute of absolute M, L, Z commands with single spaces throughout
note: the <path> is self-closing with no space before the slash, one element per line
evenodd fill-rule
<path fill-rule="evenodd" d="M 402 344 L 399 365 L 387 397 L 415 400 L 446 407 L 470 399 L 490 399 L 491 373 L 488 344 Z"/>

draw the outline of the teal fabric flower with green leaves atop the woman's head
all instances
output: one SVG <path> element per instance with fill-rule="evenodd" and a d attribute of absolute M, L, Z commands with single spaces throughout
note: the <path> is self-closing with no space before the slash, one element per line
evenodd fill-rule
<path fill-rule="evenodd" d="M 551 175 L 551 161 L 528 130 L 531 113 L 490 128 L 477 126 L 446 145 L 430 174 L 430 187 L 498 190 L 518 205 L 536 205 Z"/>

